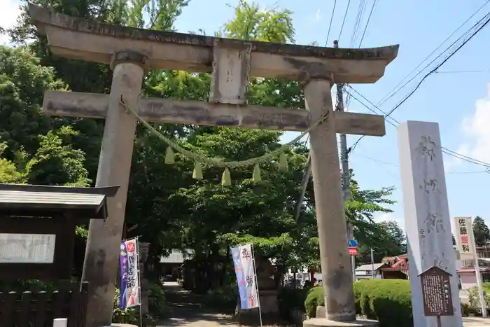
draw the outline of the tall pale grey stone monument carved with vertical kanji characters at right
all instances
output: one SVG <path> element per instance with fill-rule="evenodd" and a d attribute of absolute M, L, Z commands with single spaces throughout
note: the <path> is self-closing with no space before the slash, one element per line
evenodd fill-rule
<path fill-rule="evenodd" d="M 437 327 L 435 316 L 424 315 L 419 277 L 433 266 L 451 274 L 454 316 L 442 316 L 442 326 L 462 327 L 439 125 L 403 123 L 398 127 L 398 148 L 414 327 Z"/>

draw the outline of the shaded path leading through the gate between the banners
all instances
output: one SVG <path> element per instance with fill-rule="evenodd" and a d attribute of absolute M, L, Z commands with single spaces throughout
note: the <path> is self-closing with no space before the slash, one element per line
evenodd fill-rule
<path fill-rule="evenodd" d="M 169 306 L 169 318 L 160 321 L 157 327 L 221 327 L 238 326 L 231 316 L 211 312 L 202 307 L 197 295 L 183 290 L 176 282 L 165 282 L 165 295 Z"/>

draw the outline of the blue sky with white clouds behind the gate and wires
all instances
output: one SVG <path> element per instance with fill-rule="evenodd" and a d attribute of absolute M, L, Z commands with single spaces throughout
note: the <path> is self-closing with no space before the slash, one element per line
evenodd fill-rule
<path fill-rule="evenodd" d="M 365 1 L 366 10 L 361 29 L 365 26 L 372 1 Z M 15 17 L 15 0 L 7 0 L 7 2 L 10 6 L 5 5 L 4 10 L 0 13 L 0 22 L 3 22 L 0 24 L 3 26 L 15 22 L 12 19 Z M 180 32 L 204 29 L 207 34 L 212 34 L 226 20 L 232 18 L 233 9 L 227 4 L 234 5 L 236 2 L 235 0 L 191 0 L 190 6 L 183 10 L 182 15 L 176 21 L 176 27 Z M 351 0 L 339 41 L 341 47 L 350 46 L 359 2 L 360 0 Z M 353 85 L 353 87 L 377 104 L 405 75 L 485 2 L 484 0 L 378 0 L 365 34 L 363 47 L 400 44 L 398 58 L 387 67 L 384 78 L 377 83 Z M 329 46 L 333 39 L 339 36 L 347 3 L 348 0 L 337 0 L 328 40 Z M 325 45 L 333 0 L 261 0 L 260 5 L 264 7 L 277 5 L 294 12 L 297 43 L 306 44 L 318 41 L 320 45 Z M 435 55 L 449 46 L 454 39 L 489 11 L 490 4 L 468 22 L 453 39 L 445 43 Z M 444 147 L 484 162 L 490 162 L 490 100 L 487 86 L 487 83 L 490 82 L 490 67 L 487 63 L 490 46 L 485 46 L 489 39 L 490 27 L 486 27 L 441 67 L 440 74 L 433 74 L 426 78 L 421 88 L 393 113 L 393 117 L 400 122 L 405 120 L 438 122 Z M 0 38 L 0 43 L 1 41 Z M 423 66 L 425 64 L 419 69 Z M 479 72 L 456 74 L 448 73 L 448 71 Z M 414 88 L 426 72 L 428 70 L 402 88 L 384 103 L 381 109 L 385 112 L 390 111 L 402 97 L 405 97 Z M 355 93 L 354 95 L 358 97 Z M 369 113 L 362 104 L 354 99 L 351 99 L 349 111 Z M 293 137 L 295 134 L 287 133 L 284 138 L 292 139 Z M 356 137 L 349 137 L 348 142 L 353 144 L 355 140 Z M 485 218 L 490 225 L 490 207 L 485 204 L 486 193 L 484 193 L 486 189 L 484 185 L 490 181 L 490 174 L 483 172 L 484 167 L 454 160 L 454 158 L 447 158 L 445 164 L 451 216 L 479 215 Z M 378 218 L 395 219 L 404 225 L 395 127 L 386 124 L 385 137 L 365 137 L 360 141 L 351 155 L 351 167 L 362 188 L 395 187 L 392 199 L 398 203 L 392 208 L 393 214 Z"/>

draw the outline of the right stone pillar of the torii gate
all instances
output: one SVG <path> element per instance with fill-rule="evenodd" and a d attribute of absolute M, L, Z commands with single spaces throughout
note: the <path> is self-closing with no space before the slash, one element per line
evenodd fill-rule
<path fill-rule="evenodd" d="M 332 321 L 355 321 L 353 277 L 346 244 L 347 230 L 331 87 L 332 82 L 327 80 L 308 81 L 304 86 L 304 99 L 311 119 L 316 121 L 326 115 L 323 123 L 309 134 L 321 275 L 326 318 Z"/>

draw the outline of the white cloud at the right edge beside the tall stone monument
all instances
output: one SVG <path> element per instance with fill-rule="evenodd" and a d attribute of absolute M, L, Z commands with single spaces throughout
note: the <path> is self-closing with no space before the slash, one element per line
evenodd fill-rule
<path fill-rule="evenodd" d="M 490 89 L 490 85 L 489 85 Z M 490 97 L 478 99 L 475 112 L 461 122 L 465 141 L 458 147 L 458 153 L 483 162 L 490 162 Z M 454 166 L 461 160 L 449 162 Z"/>

